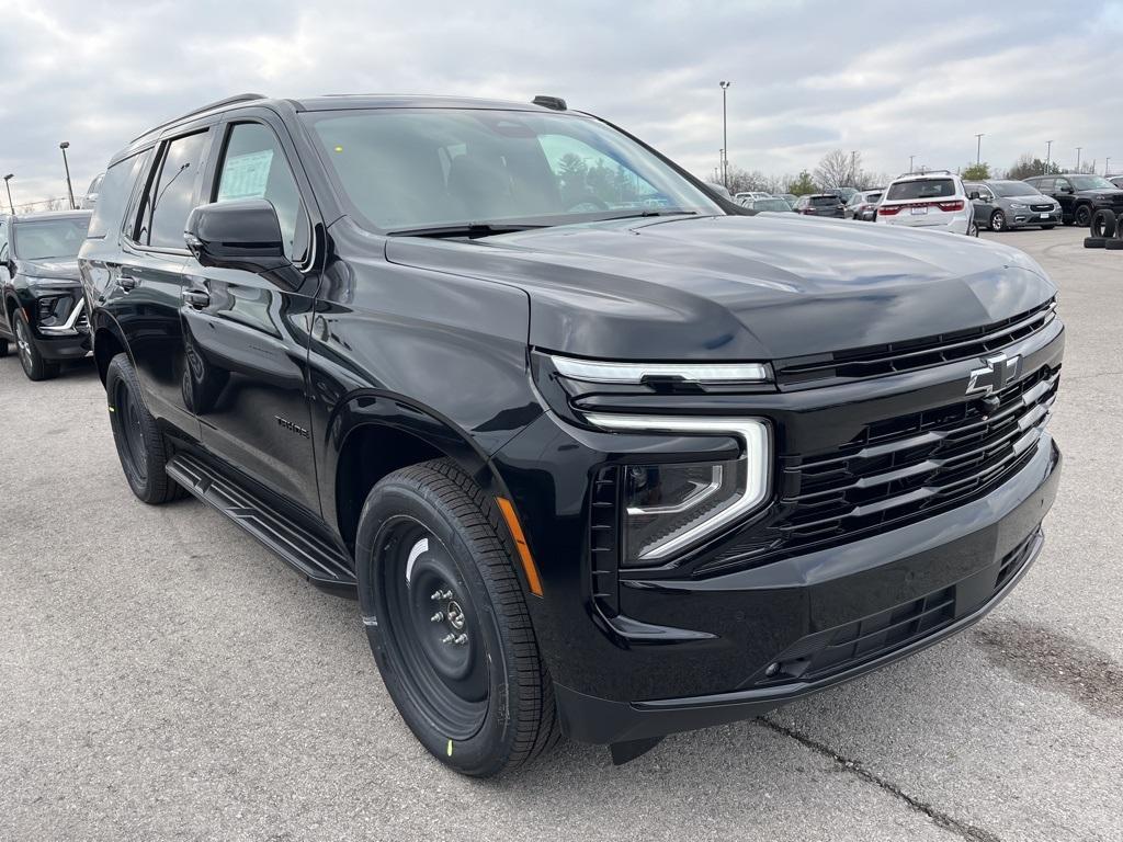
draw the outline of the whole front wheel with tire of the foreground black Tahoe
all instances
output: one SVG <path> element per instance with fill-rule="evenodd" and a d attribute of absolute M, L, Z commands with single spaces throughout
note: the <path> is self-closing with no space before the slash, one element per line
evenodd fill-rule
<path fill-rule="evenodd" d="M 359 604 L 382 679 L 421 744 L 474 777 L 560 734 L 514 558 L 491 497 L 447 459 L 384 477 L 359 516 Z"/>

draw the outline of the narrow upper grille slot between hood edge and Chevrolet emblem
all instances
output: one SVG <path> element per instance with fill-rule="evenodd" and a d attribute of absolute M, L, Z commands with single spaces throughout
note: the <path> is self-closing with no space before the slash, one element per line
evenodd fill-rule
<path fill-rule="evenodd" d="M 791 386 L 830 378 L 880 377 L 985 357 L 990 351 L 1043 330 L 1056 318 L 1056 301 L 1050 300 L 1033 310 L 979 328 L 855 350 L 782 359 L 775 363 L 776 383 Z"/>

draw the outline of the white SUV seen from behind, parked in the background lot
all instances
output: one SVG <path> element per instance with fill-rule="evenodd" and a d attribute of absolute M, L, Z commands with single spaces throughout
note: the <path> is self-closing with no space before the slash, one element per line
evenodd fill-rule
<path fill-rule="evenodd" d="M 964 182 L 947 170 L 911 173 L 891 182 L 877 205 L 875 221 L 952 234 L 978 230 Z"/>

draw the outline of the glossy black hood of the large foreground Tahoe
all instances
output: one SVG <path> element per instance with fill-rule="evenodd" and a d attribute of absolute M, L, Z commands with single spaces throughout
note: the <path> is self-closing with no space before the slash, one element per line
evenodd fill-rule
<path fill-rule="evenodd" d="M 842 350 L 989 324 L 1056 293 L 1014 248 L 785 213 L 391 238 L 386 257 L 517 285 L 531 345 L 604 359 Z"/>

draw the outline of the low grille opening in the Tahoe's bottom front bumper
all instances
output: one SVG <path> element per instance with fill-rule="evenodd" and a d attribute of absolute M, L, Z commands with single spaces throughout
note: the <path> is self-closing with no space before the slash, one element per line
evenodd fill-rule
<path fill-rule="evenodd" d="M 989 602 L 1025 566 L 1040 541 L 1039 527 L 1002 558 L 995 584 L 984 602 Z M 956 593 L 956 586 L 950 585 L 903 605 L 809 634 L 780 652 L 754 684 L 827 678 L 923 640 L 950 625 L 960 614 L 980 607 L 957 606 Z"/>

